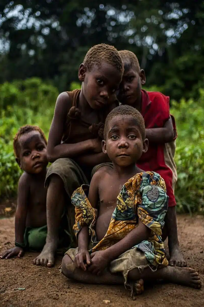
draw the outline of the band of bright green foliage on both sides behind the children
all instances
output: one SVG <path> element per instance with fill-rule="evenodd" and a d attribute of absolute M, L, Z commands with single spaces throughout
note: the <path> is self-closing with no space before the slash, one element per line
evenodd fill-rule
<path fill-rule="evenodd" d="M 80 88 L 73 82 L 70 90 Z M 151 87 L 149 90 L 158 90 Z M 159 88 L 162 90 L 162 88 Z M 175 161 L 178 181 L 175 189 L 179 212 L 204 211 L 204 89 L 199 99 L 171 101 L 178 138 Z M 0 86 L 0 198 L 15 195 L 21 174 L 13 154 L 13 137 L 20 126 L 35 124 L 48 137 L 57 97 L 56 88 L 39 79 L 15 81 Z"/>

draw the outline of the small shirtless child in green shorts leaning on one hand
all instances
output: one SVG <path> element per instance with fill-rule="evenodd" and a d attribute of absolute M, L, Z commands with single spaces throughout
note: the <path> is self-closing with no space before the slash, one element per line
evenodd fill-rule
<path fill-rule="evenodd" d="M 22 257 L 28 249 L 43 248 L 46 226 L 47 141 L 37 126 L 26 125 L 17 132 L 13 148 L 16 161 L 24 171 L 18 182 L 15 216 L 15 247 L 3 252 L 1 258 Z"/>

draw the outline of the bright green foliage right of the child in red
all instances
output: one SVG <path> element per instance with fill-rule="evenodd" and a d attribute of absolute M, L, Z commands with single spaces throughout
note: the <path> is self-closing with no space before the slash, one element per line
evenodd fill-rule
<path fill-rule="evenodd" d="M 204 212 L 204 90 L 197 102 L 172 102 L 178 138 L 175 161 L 178 181 L 175 189 L 180 212 Z"/>

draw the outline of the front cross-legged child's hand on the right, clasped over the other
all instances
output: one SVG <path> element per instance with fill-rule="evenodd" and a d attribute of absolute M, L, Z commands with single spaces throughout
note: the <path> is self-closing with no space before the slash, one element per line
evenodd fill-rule
<path fill-rule="evenodd" d="M 88 270 L 93 274 L 99 275 L 108 266 L 109 262 L 110 261 L 104 251 L 95 251 L 91 254 L 91 265 Z"/>

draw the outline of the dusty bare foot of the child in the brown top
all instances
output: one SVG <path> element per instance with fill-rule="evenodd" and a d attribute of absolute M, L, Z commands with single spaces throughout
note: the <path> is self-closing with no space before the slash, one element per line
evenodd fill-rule
<path fill-rule="evenodd" d="M 33 264 L 52 267 L 54 266 L 54 254 L 55 248 L 53 248 L 52 244 L 46 243 L 40 255 L 33 260 Z"/>

